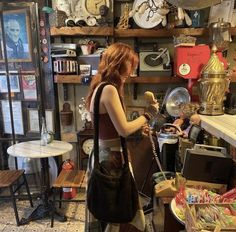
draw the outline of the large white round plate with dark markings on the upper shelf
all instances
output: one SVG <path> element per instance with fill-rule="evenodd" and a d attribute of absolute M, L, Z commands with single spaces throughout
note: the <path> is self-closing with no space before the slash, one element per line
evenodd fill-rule
<path fill-rule="evenodd" d="M 133 4 L 133 10 L 138 9 L 138 7 L 145 2 L 144 0 L 135 0 Z M 159 0 L 154 0 L 155 5 L 159 5 L 160 1 Z M 159 23 L 162 21 L 162 16 L 159 15 L 158 13 L 154 13 L 151 18 L 148 19 L 148 15 L 152 14 L 150 11 L 150 8 L 146 9 L 143 14 L 140 14 L 139 12 L 136 12 L 133 16 L 133 19 L 135 23 L 144 29 L 150 29 L 153 27 L 156 27 Z"/>

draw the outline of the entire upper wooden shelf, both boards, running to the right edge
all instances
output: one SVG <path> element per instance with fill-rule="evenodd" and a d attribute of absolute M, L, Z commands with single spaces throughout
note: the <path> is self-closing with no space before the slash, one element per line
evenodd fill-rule
<path fill-rule="evenodd" d="M 173 28 L 173 29 L 115 29 L 113 27 L 51 27 L 51 36 L 114 36 L 129 37 L 172 37 L 174 35 L 207 36 L 208 28 Z M 231 35 L 236 35 L 236 27 L 231 28 Z"/>

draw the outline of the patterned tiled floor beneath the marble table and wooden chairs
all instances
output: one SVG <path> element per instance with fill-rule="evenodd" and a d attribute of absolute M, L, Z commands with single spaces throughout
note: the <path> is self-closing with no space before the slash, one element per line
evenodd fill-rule
<path fill-rule="evenodd" d="M 81 194 L 80 194 L 81 197 Z M 82 196 L 82 198 L 84 195 Z M 34 200 L 34 208 L 40 203 L 40 200 Z M 34 208 L 30 207 L 28 201 L 17 201 L 20 218 L 27 217 Z M 54 227 L 50 226 L 50 219 L 32 221 L 28 225 L 17 227 L 15 215 L 10 201 L 0 201 L 0 232 L 83 232 L 85 221 L 84 203 L 63 203 L 60 212 L 67 216 L 67 222 L 54 221 Z M 153 232 L 151 224 L 151 214 L 147 218 L 147 232 Z"/>

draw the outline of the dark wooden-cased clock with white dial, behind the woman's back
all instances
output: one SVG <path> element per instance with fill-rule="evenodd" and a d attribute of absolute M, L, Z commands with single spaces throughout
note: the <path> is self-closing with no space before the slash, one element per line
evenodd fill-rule
<path fill-rule="evenodd" d="M 77 138 L 79 144 L 79 167 L 85 170 L 89 154 L 93 149 L 93 129 L 85 127 L 77 133 Z"/>

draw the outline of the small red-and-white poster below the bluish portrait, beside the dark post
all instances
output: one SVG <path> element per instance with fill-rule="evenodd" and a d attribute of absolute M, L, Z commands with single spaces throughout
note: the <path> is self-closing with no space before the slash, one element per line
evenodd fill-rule
<path fill-rule="evenodd" d="M 35 75 L 22 74 L 21 82 L 25 100 L 37 100 L 37 85 Z"/>

